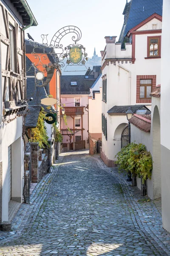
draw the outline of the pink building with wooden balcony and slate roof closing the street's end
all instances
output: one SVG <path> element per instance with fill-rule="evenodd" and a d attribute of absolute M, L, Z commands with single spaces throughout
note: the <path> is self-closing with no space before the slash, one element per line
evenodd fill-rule
<path fill-rule="evenodd" d="M 62 118 L 63 143 L 88 140 L 88 95 L 99 73 L 101 73 L 100 66 L 95 66 L 83 76 L 61 76 L 61 102 L 65 105 L 68 128 L 73 133 L 71 136 Z"/>

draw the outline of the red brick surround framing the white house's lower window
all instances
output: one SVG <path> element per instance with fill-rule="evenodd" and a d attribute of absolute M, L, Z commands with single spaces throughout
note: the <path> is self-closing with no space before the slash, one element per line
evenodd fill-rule
<path fill-rule="evenodd" d="M 136 76 L 136 103 L 151 103 L 151 99 L 140 99 L 140 79 L 152 79 L 152 91 L 156 88 L 156 75 Z"/>

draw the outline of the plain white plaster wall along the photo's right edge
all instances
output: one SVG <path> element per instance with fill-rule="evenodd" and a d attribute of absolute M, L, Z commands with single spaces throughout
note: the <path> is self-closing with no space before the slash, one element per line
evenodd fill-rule
<path fill-rule="evenodd" d="M 170 232 L 170 1 L 163 2 L 162 43 L 161 43 L 161 194 L 162 194 L 162 223 Z"/>

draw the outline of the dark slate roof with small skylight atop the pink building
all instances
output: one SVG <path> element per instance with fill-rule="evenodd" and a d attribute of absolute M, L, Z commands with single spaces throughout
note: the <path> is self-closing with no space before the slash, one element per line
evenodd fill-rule
<path fill-rule="evenodd" d="M 61 76 L 61 94 L 65 93 L 90 93 L 90 88 L 94 84 L 94 76 L 89 76 L 89 79 L 85 79 L 85 76 Z M 71 81 L 77 81 L 77 86 L 71 86 Z"/>

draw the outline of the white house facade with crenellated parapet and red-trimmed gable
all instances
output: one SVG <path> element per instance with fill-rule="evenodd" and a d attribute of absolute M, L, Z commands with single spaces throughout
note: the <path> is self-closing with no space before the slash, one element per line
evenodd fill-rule
<path fill-rule="evenodd" d="M 101 157 L 107 166 L 115 165 L 115 155 L 121 150 L 128 107 L 151 110 L 150 93 L 161 79 L 161 16 L 151 15 L 130 29 L 127 37 L 130 43 L 125 43 L 125 49 L 116 43 L 116 37 L 105 37 L 106 47 L 101 52 L 105 123 Z"/>

